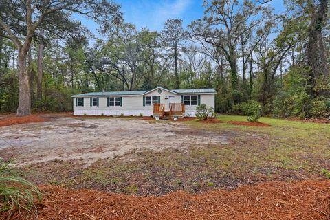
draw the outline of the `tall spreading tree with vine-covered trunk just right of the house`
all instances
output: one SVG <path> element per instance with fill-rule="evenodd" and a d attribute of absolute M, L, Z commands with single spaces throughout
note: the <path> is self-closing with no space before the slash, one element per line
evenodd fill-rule
<path fill-rule="evenodd" d="M 219 48 L 230 65 L 232 96 L 234 103 L 239 102 L 239 44 L 242 33 L 252 32 L 261 22 L 264 8 L 252 1 L 221 0 L 205 1 L 203 19 L 190 25 L 192 34 L 199 41 L 205 41 Z M 245 45 L 243 45 L 244 47 Z"/>

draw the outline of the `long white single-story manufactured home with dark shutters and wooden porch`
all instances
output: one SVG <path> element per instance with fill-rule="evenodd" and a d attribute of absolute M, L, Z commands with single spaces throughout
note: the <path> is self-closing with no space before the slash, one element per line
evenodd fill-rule
<path fill-rule="evenodd" d="M 72 96 L 74 115 L 195 116 L 199 104 L 214 108 L 214 89 L 101 91 Z"/>

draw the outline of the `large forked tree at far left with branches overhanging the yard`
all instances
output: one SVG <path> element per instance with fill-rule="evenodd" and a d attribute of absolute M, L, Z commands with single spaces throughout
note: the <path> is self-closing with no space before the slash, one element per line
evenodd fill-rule
<path fill-rule="evenodd" d="M 18 50 L 19 107 L 17 115 L 29 115 L 31 111 L 30 82 L 26 60 L 32 40 L 44 23 L 52 23 L 56 14 L 67 20 L 75 20 L 74 14 L 94 19 L 109 28 L 111 21 L 120 21 L 120 6 L 112 1 L 96 0 L 3 0 L 0 3 L 0 30 Z M 115 19 L 115 20 L 114 20 Z M 55 22 L 53 22 L 55 23 Z M 43 26 L 47 28 L 47 26 Z"/>

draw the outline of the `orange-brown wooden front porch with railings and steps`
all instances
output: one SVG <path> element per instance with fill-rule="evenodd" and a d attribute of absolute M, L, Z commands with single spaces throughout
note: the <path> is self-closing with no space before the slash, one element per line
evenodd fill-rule
<path fill-rule="evenodd" d="M 153 116 L 159 116 L 160 119 L 182 118 L 184 117 L 184 113 L 185 105 L 183 103 L 170 103 L 170 107 L 167 111 L 165 109 L 165 104 L 153 104 Z"/>

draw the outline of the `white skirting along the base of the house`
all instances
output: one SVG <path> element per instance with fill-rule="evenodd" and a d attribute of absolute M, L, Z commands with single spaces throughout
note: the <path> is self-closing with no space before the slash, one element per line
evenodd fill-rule
<path fill-rule="evenodd" d="M 153 115 L 153 110 L 74 110 L 74 115 L 107 115 L 107 116 L 143 116 Z M 196 110 L 186 111 L 185 117 L 195 117 Z"/>

